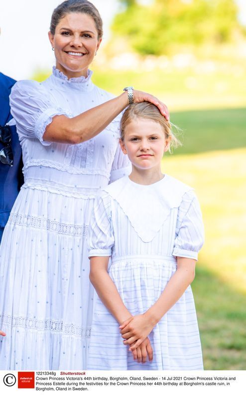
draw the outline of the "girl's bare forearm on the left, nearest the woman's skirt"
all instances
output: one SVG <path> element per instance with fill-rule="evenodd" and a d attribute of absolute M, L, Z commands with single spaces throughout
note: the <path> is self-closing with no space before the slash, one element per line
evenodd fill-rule
<path fill-rule="evenodd" d="M 108 274 L 108 262 L 109 257 L 91 257 L 90 280 L 101 301 L 119 324 L 122 324 L 124 320 L 131 316 L 131 314 L 123 304 L 116 285 Z"/>

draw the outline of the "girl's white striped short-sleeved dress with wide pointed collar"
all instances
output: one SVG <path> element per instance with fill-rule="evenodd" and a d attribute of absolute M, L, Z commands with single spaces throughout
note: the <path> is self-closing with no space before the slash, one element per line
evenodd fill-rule
<path fill-rule="evenodd" d="M 111 256 L 109 275 L 132 315 L 158 299 L 176 271 L 177 256 L 197 259 L 203 222 L 194 191 L 165 175 L 150 186 L 124 177 L 95 201 L 88 236 L 90 256 Z M 153 361 L 133 361 L 119 324 L 99 298 L 89 349 L 90 370 L 203 370 L 191 287 L 149 335 Z"/>

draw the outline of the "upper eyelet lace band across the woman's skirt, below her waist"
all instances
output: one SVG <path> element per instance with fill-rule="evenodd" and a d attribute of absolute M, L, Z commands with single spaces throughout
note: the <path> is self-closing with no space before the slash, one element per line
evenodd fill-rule
<path fill-rule="evenodd" d="M 60 223 L 56 220 L 47 219 L 41 216 L 23 215 L 19 213 L 10 213 L 8 220 L 13 225 L 42 228 L 54 231 L 57 234 L 66 234 L 78 237 L 86 237 L 88 234 L 88 224 L 76 225 Z"/>

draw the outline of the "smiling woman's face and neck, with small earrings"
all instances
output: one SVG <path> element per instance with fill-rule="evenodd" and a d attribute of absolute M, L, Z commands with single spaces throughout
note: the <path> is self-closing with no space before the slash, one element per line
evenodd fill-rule
<path fill-rule="evenodd" d="M 54 35 L 49 32 L 49 39 L 55 49 L 56 68 L 68 78 L 86 77 L 102 41 L 98 40 L 94 19 L 81 12 L 70 12 L 61 18 Z"/>

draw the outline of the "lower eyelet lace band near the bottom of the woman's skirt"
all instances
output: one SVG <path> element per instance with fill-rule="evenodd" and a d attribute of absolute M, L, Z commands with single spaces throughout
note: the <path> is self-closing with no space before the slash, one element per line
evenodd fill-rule
<path fill-rule="evenodd" d="M 38 331 L 54 331 L 64 335 L 75 335 L 81 338 L 91 337 L 91 327 L 81 327 L 78 324 L 64 323 L 62 320 L 38 320 L 30 317 L 0 315 L 0 325 L 12 328 L 26 328 Z"/>

